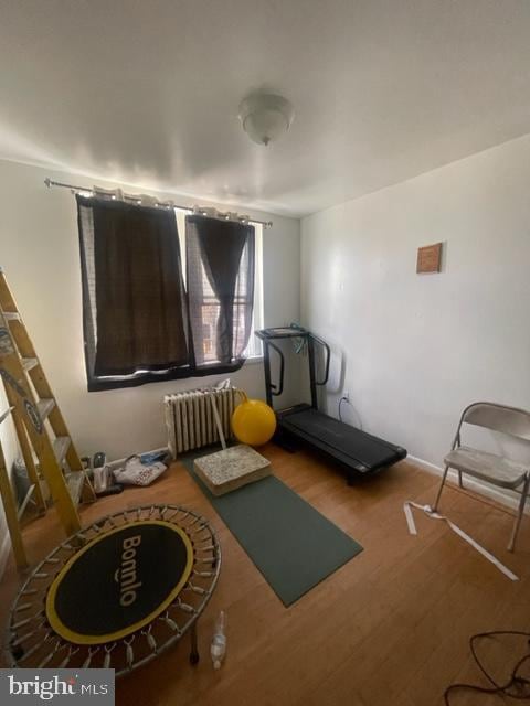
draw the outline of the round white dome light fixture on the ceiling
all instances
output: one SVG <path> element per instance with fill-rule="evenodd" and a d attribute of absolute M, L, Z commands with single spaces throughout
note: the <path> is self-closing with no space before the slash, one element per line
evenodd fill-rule
<path fill-rule="evenodd" d="M 255 93 L 240 104 L 240 120 L 251 140 L 268 145 L 287 132 L 295 111 L 287 98 L 268 93 Z"/>

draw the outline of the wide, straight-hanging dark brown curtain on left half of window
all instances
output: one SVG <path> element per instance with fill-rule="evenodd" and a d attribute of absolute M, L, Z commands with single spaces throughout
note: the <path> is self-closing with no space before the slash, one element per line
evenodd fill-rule
<path fill-rule="evenodd" d="M 174 211 L 77 195 L 77 212 L 88 389 L 189 376 Z"/>

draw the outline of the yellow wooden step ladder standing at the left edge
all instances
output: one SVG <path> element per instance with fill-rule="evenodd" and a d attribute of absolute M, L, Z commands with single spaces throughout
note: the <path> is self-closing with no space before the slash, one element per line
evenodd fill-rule
<path fill-rule="evenodd" d="M 66 535 L 74 534 L 81 530 L 77 504 L 96 496 L 1 268 L 0 376 L 36 506 L 46 510 L 35 457 Z"/>

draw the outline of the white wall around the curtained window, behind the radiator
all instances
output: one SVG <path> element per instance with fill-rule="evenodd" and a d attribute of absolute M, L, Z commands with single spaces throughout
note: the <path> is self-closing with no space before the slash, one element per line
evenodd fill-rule
<path fill-rule="evenodd" d="M 212 378 L 87 393 L 83 359 L 81 271 L 75 200 L 68 190 L 47 190 L 45 176 L 91 186 L 82 176 L 0 161 L 0 265 L 82 454 L 98 449 L 109 458 L 166 443 L 162 397 Z M 102 183 L 103 186 L 119 184 Z M 132 186 L 125 191 L 137 193 Z M 190 199 L 174 194 L 178 203 Z M 205 203 L 201 200 L 201 204 Z M 241 211 L 274 221 L 264 232 L 265 325 L 299 319 L 299 222 Z M 219 376 L 213 379 L 219 379 Z M 263 367 L 247 364 L 232 379 L 252 396 L 264 396 Z"/>

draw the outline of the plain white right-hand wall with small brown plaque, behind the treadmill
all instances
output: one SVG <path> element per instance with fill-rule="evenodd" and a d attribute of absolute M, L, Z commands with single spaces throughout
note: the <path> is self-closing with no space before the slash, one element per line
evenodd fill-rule
<path fill-rule="evenodd" d="M 527 136 L 304 218 L 303 322 L 335 345 L 330 414 L 348 389 L 347 420 L 441 466 L 468 403 L 530 408 L 529 184 Z M 443 272 L 416 275 L 439 240 Z"/>

